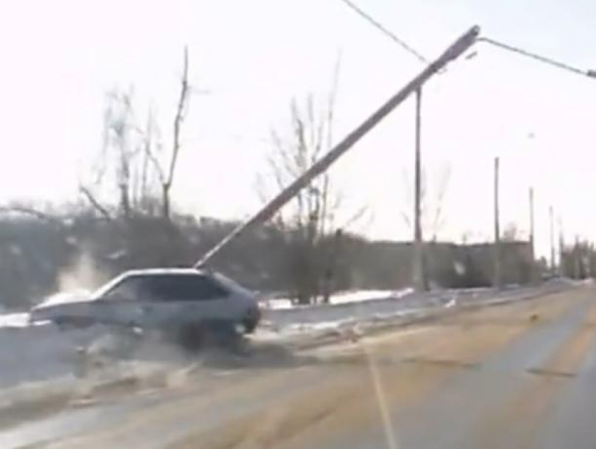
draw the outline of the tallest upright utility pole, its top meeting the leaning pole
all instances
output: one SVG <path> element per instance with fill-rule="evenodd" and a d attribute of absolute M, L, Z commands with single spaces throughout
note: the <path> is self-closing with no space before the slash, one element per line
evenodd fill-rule
<path fill-rule="evenodd" d="M 412 260 L 414 263 L 412 268 L 416 291 L 426 290 L 421 225 L 421 106 L 422 88 L 418 88 L 416 89 L 416 151 L 414 155 L 414 258 Z"/>

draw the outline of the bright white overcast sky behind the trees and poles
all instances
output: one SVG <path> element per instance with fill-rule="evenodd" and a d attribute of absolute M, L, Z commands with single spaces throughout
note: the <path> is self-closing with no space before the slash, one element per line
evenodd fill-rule
<path fill-rule="evenodd" d="M 494 39 L 596 67 L 590 0 L 359 4 L 427 57 L 478 24 Z M 340 52 L 338 139 L 421 69 L 339 0 L 4 0 L 0 202 L 76 197 L 100 148 L 105 92 L 115 86 L 134 85 L 167 132 L 184 44 L 191 82 L 208 93 L 191 99 L 175 200 L 201 215 L 255 210 L 255 177 L 266 170 L 271 128 L 286 123 L 292 97 L 326 95 Z M 487 46 L 478 50 L 424 92 L 431 197 L 433 179 L 451 170 L 440 237 L 491 236 L 492 164 L 501 156 L 503 227 L 515 222 L 527 231 L 532 184 L 539 252 L 548 249 L 551 203 L 568 239 L 596 239 L 596 81 Z M 360 230 L 371 237 L 409 235 L 401 214 L 411 204 L 403 178 L 405 171 L 412 178 L 413 112 L 413 101 L 405 103 L 333 170 L 346 214 L 369 208 L 372 220 Z"/>

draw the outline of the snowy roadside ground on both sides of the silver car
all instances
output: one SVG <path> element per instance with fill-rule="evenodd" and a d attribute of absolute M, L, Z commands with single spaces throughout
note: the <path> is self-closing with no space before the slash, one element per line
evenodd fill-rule
<path fill-rule="evenodd" d="M 425 294 L 411 290 L 354 291 L 335 296 L 328 305 L 292 308 L 287 307 L 287 300 L 285 305 L 277 300 L 265 308 L 263 325 L 253 339 L 256 343 L 312 343 L 407 322 L 456 306 L 515 301 L 562 288 L 567 284 L 555 282 L 498 293 L 491 289 Z M 155 373 L 180 373 L 201 363 L 205 364 L 205 359 L 189 359 L 177 347 L 154 336 L 137 338 L 102 326 L 60 331 L 50 324 L 28 326 L 27 314 L 0 315 L 0 409 L 3 401 L 17 392 L 88 387 L 127 376 L 149 378 Z"/>

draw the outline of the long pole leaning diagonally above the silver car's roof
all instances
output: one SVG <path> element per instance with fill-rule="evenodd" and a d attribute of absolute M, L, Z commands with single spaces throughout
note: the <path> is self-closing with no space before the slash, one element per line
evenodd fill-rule
<path fill-rule="evenodd" d="M 215 247 L 212 247 L 200 260 L 194 264 L 194 268 L 200 268 L 205 265 L 210 259 L 215 256 L 219 251 L 226 247 L 229 242 L 235 240 L 237 237 L 245 233 L 246 230 L 252 228 L 252 226 L 265 223 L 273 215 L 275 215 L 279 209 L 281 209 L 287 202 L 292 200 L 294 196 L 306 187 L 315 177 L 325 172 L 336 160 L 346 153 L 356 142 L 358 142 L 367 132 L 372 130 L 383 118 L 393 111 L 397 106 L 404 102 L 409 95 L 421 88 L 429 78 L 435 73 L 444 68 L 449 62 L 455 60 L 461 56 L 462 53 L 466 52 L 468 48 L 473 46 L 478 35 L 480 34 L 480 27 L 475 26 L 470 28 L 465 34 L 459 37 L 454 43 L 452 43 L 445 52 L 442 53 L 435 61 L 426 67 L 423 71 L 415 76 L 412 81 L 409 81 L 399 92 L 388 101 L 383 104 L 377 111 L 372 113 L 372 116 L 367 118 L 360 126 L 348 134 L 344 140 L 339 142 L 334 148 L 332 148 L 323 158 L 320 158 L 314 163 L 309 170 L 306 170 L 302 176 L 295 179 L 292 184 L 287 186 L 281 191 L 276 198 L 273 198 L 268 202 L 262 209 L 260 209 L 255 215 L 253 215 L 248 221 L 245 221 L 238 227 L 236 227 L 229 235 L 226 235 Z"/>

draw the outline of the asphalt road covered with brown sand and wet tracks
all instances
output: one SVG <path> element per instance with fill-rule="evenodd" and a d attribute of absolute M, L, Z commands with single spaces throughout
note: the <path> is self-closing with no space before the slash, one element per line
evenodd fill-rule
<path fill-rule="evenodd" d="M 0 448 L 595 448 L 596 289 L 312 350 L 1 427 Z"/>

